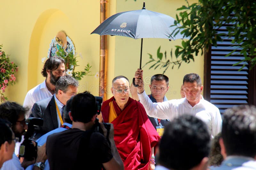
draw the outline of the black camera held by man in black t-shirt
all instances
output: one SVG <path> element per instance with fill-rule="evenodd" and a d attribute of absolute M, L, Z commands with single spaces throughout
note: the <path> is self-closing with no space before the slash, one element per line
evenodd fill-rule
<path fill-rule="evenodd" d="M 99 115 L 100 114 L 100 110 L 101 110 L 102 97 L 95 96 L 95 99 L 96 99 L 97 114 Z M 109 130 L 110 130 L 110 123 L 103 123 L 103 125 L 107 129 L 107 136 L 106 136 L 106 138 L 107 138 L 108 143 L 110 145 L 110 141 L 108 139 Z M 95 120 L 95 124 L 93 126 L 93 129 L 94 129 L 95 132 L 99 132 L 99 133 L 101 133 L 104 136 L 104 132 L 103 132 L 103 130 L 100 127 L 100 123 L 99 123 L 99 119 L 98 118 L 96 118 L 96 120 Z"/>

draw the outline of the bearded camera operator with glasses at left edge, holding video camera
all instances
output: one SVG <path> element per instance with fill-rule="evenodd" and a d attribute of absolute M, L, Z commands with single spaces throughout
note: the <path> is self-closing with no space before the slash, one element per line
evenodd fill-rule
<path fill-rule="evenodd" d="M 26 111 L 27 110 L 24 107 L 15 102 L 5 102 L 0 105 L 0 118 L 9 121 L 12 124 L 12 131 L 14 132 L 15 137 L 19 138 L 19 140 L 21 140 L 21 136 L 25 130 L 28 129 L 25 119 Z M 19 158 L 13 152 L 12 159 L 4 162 L 1 170 L 23 170 L 28 165 L 35 163 L 35 161 L 45 161 L 45 157 L 43 156 L 45 155 L 44 153 L 43 147 L 38 148 L 36 160 L 28 161 L 24 159 L 22 164 L 20 164 Z"/>

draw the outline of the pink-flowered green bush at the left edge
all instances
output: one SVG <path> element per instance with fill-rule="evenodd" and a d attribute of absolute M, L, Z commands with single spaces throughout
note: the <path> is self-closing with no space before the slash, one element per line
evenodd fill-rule
<path fill-rule="evenodd" d="M 6 96 L 4 96 L 5 89 L 9 84 L 15 84 L 15 72 L 18 71 L 18 67 L 14 62 L 10 61 L 9 55 L 6 55 L 4 51 L 2 51 L 2 45 L 0 45 L 0 101 L 3 102 L 8 100 Z"/>

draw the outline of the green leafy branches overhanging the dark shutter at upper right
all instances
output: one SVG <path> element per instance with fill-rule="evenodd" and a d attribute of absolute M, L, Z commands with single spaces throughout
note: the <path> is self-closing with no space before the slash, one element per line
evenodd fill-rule
<path fill-rule="evenodd" d="M 177 61 L 170 61 L 159 55 L 160 48 L 157 50 L 157 60 L 154 60 L 149 54 L 148 63 L 153 66 L 161 65 L 166 69 L 169 65 L 178 65 L 182 62 L 189 63 L 194 61 L 194 56 L 203 54 L 204 49 L 207 51 L 210 46 L 217 46 L 223 38 L 231 39 L 233 51 L 226 57 L 235 54 L 242 54 L 244 58 L 239 62 L 250 63 L 250 69 L 256 64 L 256 1 L 239 1 L 239 0 L 199 0 L 198 3 L 183 5 L 177 9 L 181 11 L 179 16 L 176 15 L 175 25 L 177 28 L 172 32 L 172 36 L 178 33 L 189 37 L 183 39 L 181 46 L 175 46 L 175 56 Z M 231 24 L 230 24 L 231 23 Z M 222 25 L 228 25 L 228 32 L 217 32 Z M 159 55 L 159 56 L 158 56 Z M 163 61 L 165 59 L 165 61 Z M 172 59 L 172 51 L 171 51 Z M 178 60 L 179 59 L 179 60 Z M 146 65 L 148 64 L 146 63 Z M 158 63 L 158 64 L 157 64 Z M 236 63 L 235 65 L 239 64 Z M 154 65 L 155 64 L 155 65 Z M 160 66 L 159 65 L 159 66 Z M 242 68 L 245 65 L 242 66 Z M 155 67 L 157 68 L 157 67 Z M 242 69 L 241 68 L 241 69 Z"/>

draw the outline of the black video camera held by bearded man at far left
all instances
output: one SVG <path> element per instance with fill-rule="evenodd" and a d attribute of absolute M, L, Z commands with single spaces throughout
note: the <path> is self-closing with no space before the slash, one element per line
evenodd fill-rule
<path fill-rule="evenodd" d="M 27 160 L 33 160 L 37 157 L 37 143 L 36 146 L 32 143 L 33 140 L 29 139 L 34 131 L 35 126 L 43 126 L 44 120 L 41 118 L 29 117 L 26 119 L 28 130 L 24 133 L 24 141 L 20 145 L 19 158 L 24 157 Z"/>

